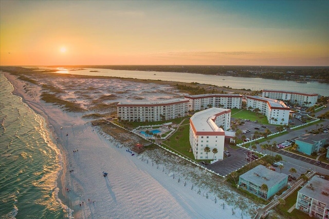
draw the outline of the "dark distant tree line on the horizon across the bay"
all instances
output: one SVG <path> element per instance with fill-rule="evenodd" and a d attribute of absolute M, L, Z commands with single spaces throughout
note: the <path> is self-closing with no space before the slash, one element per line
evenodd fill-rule
<path fill-rule="evenodd" d="M 54 66 L 55 67 L 55 66 Z M 188 72 L 275 80 L 317 80 L 329 83 L 327 66 L 229 66 L 229 65 L 83 65 L 61 67 L 107 68 L 114 70 Z M 307 78 L 306 78 L 307 76 Z M 308 77 L 309 76 L 309 77 Z"/>

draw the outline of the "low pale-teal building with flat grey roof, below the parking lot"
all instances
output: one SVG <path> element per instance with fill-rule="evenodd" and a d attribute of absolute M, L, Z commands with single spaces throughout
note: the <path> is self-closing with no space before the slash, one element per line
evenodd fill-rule
<path fill-rule="evenodd" d="M 288 183 L 288 175 L 259 165 L 239 177 L 239 187 L 264 199 L 269 199 Z M 263 185 L 266 185 L 263 186 Z"/>

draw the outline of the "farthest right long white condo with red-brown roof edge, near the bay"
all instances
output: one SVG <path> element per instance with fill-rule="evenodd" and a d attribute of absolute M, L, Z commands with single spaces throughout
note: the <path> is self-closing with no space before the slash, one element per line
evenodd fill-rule
<path fill-rule="evenodd" d="M 290 92 L 284 90 L 263 90 L 262 97 L 276 100 L 289 100 L 291 104 L 297 103 L 304 106 L 314 106 L 318 101 L 317 94 L 305 94 L 299 92 Z"/>

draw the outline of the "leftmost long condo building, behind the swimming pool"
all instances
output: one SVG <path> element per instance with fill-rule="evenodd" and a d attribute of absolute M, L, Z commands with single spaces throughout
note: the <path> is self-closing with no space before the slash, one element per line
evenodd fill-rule
<path fill-rule="evenodd" d="M 154 122 L 175 119 L 187 115 L 189 101 L 172 99 L 156 102 L 119 102 L 118 118 L 136 122 Z"/>

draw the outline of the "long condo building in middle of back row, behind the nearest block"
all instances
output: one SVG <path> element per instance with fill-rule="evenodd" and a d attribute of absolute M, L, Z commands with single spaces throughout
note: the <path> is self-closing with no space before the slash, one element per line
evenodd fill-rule
<path fill-rule="evenodd" d="M 189 110 L 199 111 L 210 107 L 238 108 L 242 107 L 242 95 L 240 94 L 200 94 L 188 95 Z"/>

